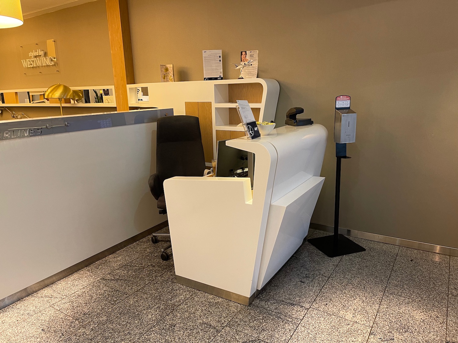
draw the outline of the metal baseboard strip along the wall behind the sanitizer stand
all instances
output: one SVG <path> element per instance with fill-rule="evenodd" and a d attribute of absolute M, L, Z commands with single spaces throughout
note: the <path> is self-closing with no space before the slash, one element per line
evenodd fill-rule
<path fill-rule="evenodd" d="M 317 223 L 310 223 L 310 228 L 315 230 L 321 230 L 326 232 L 334 232 L 334 227 L 331 225 L 324 225 L 324 224 L 317 224 Z M 403 238 L 396 238 L 391 236 L 383 236 L 378 235 L 376 233 L 352 230 L 352 229 L 345 229 L 343 227 L 339 227 L 339 233 L 349 237 L 356 237 L 367 239 L 369 241 L 376 241 L 382 243 L 388 243 L 397 245 L 399 247 L 406 247 L 406 248 L 413 248 L 418 250 L 424 250 L 428 252 L 436 252 L 438 254 L 449 255 L 449 256 L 458 256 L 458 249 L 451 248 L 451 247 L 443 247 L 441 245 L 436 244 L 429 244 L 417 241 L 410 241 L 408 239 Z"/>

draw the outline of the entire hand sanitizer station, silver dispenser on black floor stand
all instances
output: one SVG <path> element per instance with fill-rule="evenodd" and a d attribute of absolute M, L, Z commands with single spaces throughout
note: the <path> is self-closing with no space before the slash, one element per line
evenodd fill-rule
<path fill-rule="evenodd" d="M 340 171 L 342 159 L 347 156 L 347 143 L 355 141 L 356 113 L 350 109 L 350 97 L 346 95 L 336 98 L 336 112 L 334 121 L 334 141 L 336 142 L 336 195 L 334 202 L 334 234 L 331 236 L 317 237 L 308 240 L 311 245 L 323 252 L 328 257 L 337 257 L 366 249 L 339 234 L 339 208 L 340 208 Z"/>

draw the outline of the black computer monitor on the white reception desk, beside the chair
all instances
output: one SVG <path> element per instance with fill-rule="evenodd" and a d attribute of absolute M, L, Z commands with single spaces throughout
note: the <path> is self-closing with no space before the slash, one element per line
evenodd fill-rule
<path fill-rule="evenodd" d="M 225 140 L 218 141 L 216 154 L 217 177 L 250 177 L 253 187 L 254 154 L 227 146 Z"/>

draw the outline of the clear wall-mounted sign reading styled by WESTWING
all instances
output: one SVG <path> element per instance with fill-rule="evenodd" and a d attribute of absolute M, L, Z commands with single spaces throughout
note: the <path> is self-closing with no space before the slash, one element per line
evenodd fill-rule
<path fill-rule="evenodd" d="M 57 73 L 55 40 L 22 45 L 21 64 L 25 75 Z"/>

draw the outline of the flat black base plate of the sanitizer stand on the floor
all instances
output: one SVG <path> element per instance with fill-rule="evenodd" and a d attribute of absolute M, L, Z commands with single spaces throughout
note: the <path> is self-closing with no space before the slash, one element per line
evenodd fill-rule
<path fill-rule="evenodd" d="M 335 245 L 334 235 L 312 238 L 308 241 L 328 257 L 337 257 L 366 251 L 365 248 L 341 234 L 338 235 L 337 245 Z"/>

